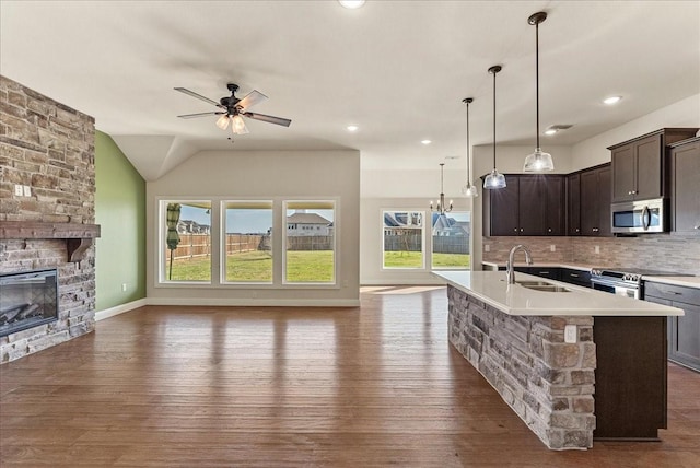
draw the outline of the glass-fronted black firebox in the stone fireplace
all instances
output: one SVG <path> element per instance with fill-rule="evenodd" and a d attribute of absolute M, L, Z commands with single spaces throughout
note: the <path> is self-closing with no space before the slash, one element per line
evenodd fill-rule
<path fill-rule="evenodd" d="M 0 274 L 0 337 L 58 320 L 58 270 Z"/>

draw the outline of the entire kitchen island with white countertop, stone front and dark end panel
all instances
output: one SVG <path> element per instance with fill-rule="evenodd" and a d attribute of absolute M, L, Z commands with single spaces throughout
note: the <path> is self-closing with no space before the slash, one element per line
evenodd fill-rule
<path fill-rule="evenodd" d="M 450 342 L 552 449 L 658 440 L 666 317 L 682 311 L 502 271 L 435 272 Z"/>

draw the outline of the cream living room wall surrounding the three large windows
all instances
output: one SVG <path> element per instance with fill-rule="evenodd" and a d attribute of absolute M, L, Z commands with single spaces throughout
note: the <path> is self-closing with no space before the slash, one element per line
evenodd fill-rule
<path fill-rule="evenodd" d="M 211 285 L 158 284 L 158 203 L 160 199 L 206 197 L 212 200 Z M 218 285 L 219 202 L 230 199 L 337 200 L 337 286 Z M 281 220 L 275 221 L 281 226 Z M 147 293 L 150 304 L 338 305 L 359 304 L 360 153 L 358 151 L 208 151 L 200 152 L 158 180 L 147 184 Z M 273 230 L 280 232 L 280 229 Z M 281 251 L 281 236 L 272 248 Z M 281 278 L 281 265 L 273 266 Z"/>

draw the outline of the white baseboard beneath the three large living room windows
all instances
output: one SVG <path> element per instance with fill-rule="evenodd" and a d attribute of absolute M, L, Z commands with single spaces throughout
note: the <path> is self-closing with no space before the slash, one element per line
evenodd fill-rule
<path fill-rule="evenodd" d="M 149 297 L 148 305 L 205 305 L 241 307 L 359 307 L 360 300 Z"/>

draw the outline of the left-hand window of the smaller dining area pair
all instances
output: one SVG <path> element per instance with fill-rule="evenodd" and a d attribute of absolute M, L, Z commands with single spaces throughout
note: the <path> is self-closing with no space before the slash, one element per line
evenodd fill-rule
<path fill-rule="evenodd" d="M 423 213 L 384 211 L 384 268 L 423 268 Z"/>

